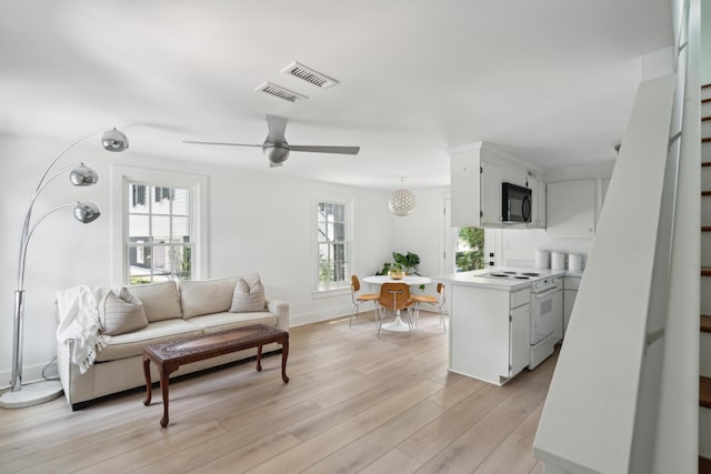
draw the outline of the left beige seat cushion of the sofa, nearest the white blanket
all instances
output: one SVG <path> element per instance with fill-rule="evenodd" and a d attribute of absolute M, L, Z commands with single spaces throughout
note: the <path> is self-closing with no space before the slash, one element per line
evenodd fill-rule
<path fill-rule="evenodd" d="M 200 326 L 181 319 L 149 323 L 140 331 L 111 336 L 97 354 L 97 362 L 114 361 L 143 354 L 143 347 L 168 341 L 180 341 L 202 334 Z M 136 367 L 140 371 L 141 367 Z"/>

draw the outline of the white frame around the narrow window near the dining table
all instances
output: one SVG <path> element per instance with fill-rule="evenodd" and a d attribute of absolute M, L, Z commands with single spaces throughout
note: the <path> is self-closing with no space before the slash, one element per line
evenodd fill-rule
<path fill-rule="evenodd" d="M 333 203 L 344 206 L 344 232 L 343 242 L 346 243 L 346 272 L 343 281 L 333 283 L 321 283 L 320 281 L 320 253 L 319 253 L 319 204 Z M 313 232 L 312 245 L 312 294 L 314 297 L 341 294 L 350 292 L 350 274 L 353 268 L 353 198 L 350 195 L 339 195 L 333 193 L 317 193 L 313 195 L 311 203 L 311 229 Z"/>

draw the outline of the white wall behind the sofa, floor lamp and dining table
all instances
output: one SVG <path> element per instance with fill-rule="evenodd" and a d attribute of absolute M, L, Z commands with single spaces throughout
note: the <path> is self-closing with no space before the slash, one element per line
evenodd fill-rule
<path fill-rule="evenodd" d="M 71 138 L 70 138 L 71 139 Z M 130 137 L 129 137 L 130 139 Z M 246 173 L 228 168 L 163 160 L 138 154 L 139 143 L 123 153 L 101 149 L 89 139 L 58 164 L 80 161 L 99 173 L 99 184 L 74 188 L 62 175 L 49 184 L 36 204 L 36 215 L 77 200 L 94 202 L 103 215 L 82 225 L 61 210 L 38 228 L 30 242 L 26 275 L 24 380 L 56 353 L 54 290 L 80 283 L 111 281 L 111 163 L 203 174 L 209 180 L 209 278 L 260 272 L 267 293 L 290 303 L 291 321 L 304 323 L 348 314 L 350 293 L 313 297 L 312 199 L 314 193 L 352 196 L 354 203 L 353 271 L 372 274 L 393 250 L 419 253 L 421 270 L 437 261 L 443 232 L 441 191 L 421 191 L 418 208 L 405 218 L 388 210 L 389 192 L 347 188 L 286 178 L 279 169 Z M 68 140 L 69 142 L 69 140 Z M 67 142 L 67 143 L 68 143 Z M 20 225 L 32 190 L 44 167 L 67 143 L 0 137 L 2 245 L 0 262 L 0 389 L 10 379 L 12 299 Z M 288 165 L 288 164 L 287 164 Z M 61 168 L 61 167 L 60 167 Z M 11 178 L 11 179 L 9 179 Z"/>

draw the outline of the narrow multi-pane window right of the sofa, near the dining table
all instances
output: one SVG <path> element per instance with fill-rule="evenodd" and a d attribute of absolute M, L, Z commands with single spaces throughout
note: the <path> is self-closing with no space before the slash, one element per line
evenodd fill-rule
<path fill-rule="evenodd" d="M 318 291 L 349 286 L 348 204 L 338 200 L 319 199 L 316 221 Z"/>

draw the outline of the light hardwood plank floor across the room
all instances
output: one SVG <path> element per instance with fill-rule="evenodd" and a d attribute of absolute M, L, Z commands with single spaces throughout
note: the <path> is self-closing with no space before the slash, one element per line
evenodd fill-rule
<path fill-rule="evenodd" d="M 290 331 L 280 355 L 72 412 L 0 410 L 0 472 L 543 473 L 531 452 L 555 356 L 497 387 L 447 371 L 448 337 L 422 312 L 414 341 L 374 336 L 372 313 Z M 136 367 L 141 371 L 140 366 Z"/>

